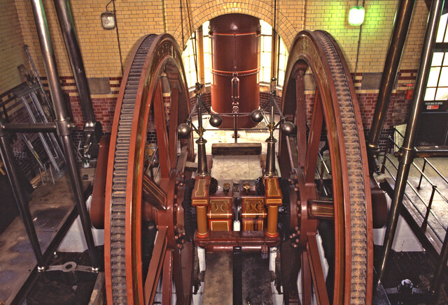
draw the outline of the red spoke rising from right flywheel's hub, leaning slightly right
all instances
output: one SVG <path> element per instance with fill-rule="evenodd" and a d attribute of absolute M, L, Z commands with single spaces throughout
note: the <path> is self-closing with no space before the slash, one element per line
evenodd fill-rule
<path fill-rule="evenodd" d="M 320 95 L 316 90 L 316 96 L 314 96 L 313 117 L 311 119 L 311 126 L 309 127 L 307 158 L 305 161 L 306 183 L 314 183 L 314 174 L 316 173 L 316 164 L 317 164 L 317 151 L 319 149 L 319 143 L 321 141 L 322 123 L 323 123 L 322 103 Z"/>

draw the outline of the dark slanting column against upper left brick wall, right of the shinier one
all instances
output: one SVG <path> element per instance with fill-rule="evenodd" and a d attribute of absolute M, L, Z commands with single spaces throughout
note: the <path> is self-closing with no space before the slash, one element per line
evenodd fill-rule
<path fill-rule="evenodd" d="M 54 0 L 59 20 L 59 27 L 61 27 L 62 36 L 64 37 L 65 48 L 70 60 L 73 77 L 75 77 L 76 88 L 80 99 L 81 109 L 83 110 L 85 125 L 93 126 L 95 122 L 95 115 L 93 112 L 92 100 L 90 98 L 90 88 L 85 76 L 85 69 L 83 64 L 83 57 L 76 37 L 75 24 L 73 22 L 73 15 L 71 15 L 71 8 L 69 0 Z"/>

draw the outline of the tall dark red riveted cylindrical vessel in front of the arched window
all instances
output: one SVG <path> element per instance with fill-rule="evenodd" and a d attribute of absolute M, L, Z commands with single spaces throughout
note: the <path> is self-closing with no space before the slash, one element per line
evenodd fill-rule
<path fill-rule="evenodd" d="M 260 20 L 243 14 L 221 15 L 210 20 L 211 109 L 215 113 L 233 110 L 232 78 L 239 79 L 238 112 L 250 113 L 260 106 Z M 221 128 L 233 128 L 232 116 L 223 115 Z M 238 128 L 255 126 L 249 115 L 239 117 Z"/>

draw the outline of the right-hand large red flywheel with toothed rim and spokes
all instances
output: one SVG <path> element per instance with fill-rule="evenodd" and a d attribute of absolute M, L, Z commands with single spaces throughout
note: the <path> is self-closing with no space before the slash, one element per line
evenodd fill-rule
<path fill-rule="evenodd" d="M 316 82 L 314 101 L 305 98 L 305 72 Z M 283 114 L 297 126 L 297 137 L 281 135 L 279 148 L 282 176 L 290 177 L 295 189 L 290 244 L 281 246 L 296 266 L 282 257 L 285 303 L 311 304 L 314 288 L 318 304 L 371 304 L 372 214 L 363 124 L 346 61 L 327 32 L 301 31 L 295 38 L 282 103 Z M 324 166 L 328 173 L 320 170 Z M 326 278 L 318 233 L 330 266 Z M 301 296 L 294 281 L 299 273 Z"/>

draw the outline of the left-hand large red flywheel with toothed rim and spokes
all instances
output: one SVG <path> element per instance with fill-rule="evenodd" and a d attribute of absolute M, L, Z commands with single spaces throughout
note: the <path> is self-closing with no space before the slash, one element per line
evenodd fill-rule
<path fill-rule="evenodd" d="M 176 41 L 168 34 L 144 36 L 130 54 L 111 132 L 104 217 L 108 304 L 152 303 L 159 281 L 164 304 L 171 304 L 173 283 L 177 304 L 190 303 L 193 244 L 184 238 L 181 202 L 193 146 L 176 134 L 189 113 Z"/>

